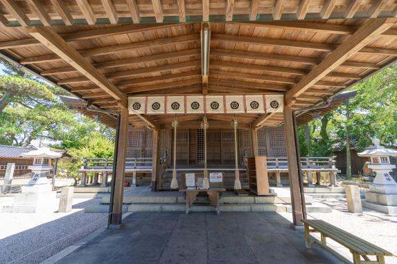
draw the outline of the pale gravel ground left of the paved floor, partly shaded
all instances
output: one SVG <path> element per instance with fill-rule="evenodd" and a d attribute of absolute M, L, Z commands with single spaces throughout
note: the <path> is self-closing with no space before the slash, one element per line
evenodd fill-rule
<path fill-rule="evenodd" d="M 68 213 L 0 214 L 0 263 L 40 263 L 107 223 L 107 214 L 86 214 L 96 199 L 73 199 Z"/>

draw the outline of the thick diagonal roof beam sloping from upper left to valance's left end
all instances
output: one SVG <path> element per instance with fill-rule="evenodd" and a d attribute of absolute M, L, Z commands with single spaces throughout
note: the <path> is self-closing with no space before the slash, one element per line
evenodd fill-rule
<path fill-rule="evenodd" d="M 53 53 L 60 56 L 66 62 L 71 64 L 89 78 L 92 82 L 98 85 L 106 93 L 118 100 L 123 106 L 127 107 L 127 97 L 114 84 L 100 73 L 94 66 L 87 62 L 74 48 L 71 48 L 60 35 L 58 35 L 52 28 L 30 28 L 30 35 L 40 41 L 46 48 Z"/>

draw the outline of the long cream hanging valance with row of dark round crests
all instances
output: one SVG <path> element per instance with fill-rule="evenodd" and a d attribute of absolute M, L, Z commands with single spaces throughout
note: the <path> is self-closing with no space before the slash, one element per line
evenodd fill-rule
<path fill-rule="evenodd" d="M 283 112 L 283 95 L 172 95 L 128 98 L 130 114 Z"/>

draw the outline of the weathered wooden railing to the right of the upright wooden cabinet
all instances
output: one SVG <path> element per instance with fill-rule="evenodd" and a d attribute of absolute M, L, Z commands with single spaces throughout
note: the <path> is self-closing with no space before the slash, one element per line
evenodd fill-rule
<path fill-rule="evenodd" d="M 245 157 L 245 164 L 247 158 Z M 333 157 L 302 157 L 302 169 L 335 169 Z M 288 169 L 288 158 L 267 157 L 267 169 Z"/>

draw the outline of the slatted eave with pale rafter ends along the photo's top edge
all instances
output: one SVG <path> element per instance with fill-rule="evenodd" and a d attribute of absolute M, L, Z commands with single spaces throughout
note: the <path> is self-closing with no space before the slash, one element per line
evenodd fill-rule
<path fill-rule="evenodd" d="M 1 26 L 395 17 L 394 0 L 1 0 Z"/>

